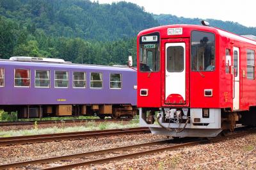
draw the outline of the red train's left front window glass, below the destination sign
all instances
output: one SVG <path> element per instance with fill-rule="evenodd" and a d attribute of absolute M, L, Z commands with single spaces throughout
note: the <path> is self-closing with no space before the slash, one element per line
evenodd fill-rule
<path fill-rule="evenodd" d="M 157 43 L 147 43 L 140 45 L 140 71 L 159 71 L 159 45 Z"/>

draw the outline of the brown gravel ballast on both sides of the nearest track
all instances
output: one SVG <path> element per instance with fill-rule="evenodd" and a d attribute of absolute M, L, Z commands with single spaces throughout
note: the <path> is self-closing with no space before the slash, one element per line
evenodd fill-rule
<path fill-rule="evenodd" d="M 166 137 L 131 134 L 3 146 L 0 147 L 0 163 L 103 150 L 162 139 Z M 256 134 L 74 169 L 256 169 Z"/>

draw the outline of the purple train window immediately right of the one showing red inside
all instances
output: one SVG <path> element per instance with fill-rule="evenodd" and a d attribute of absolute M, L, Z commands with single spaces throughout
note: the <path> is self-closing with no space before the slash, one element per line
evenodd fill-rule
<path fill-rule="evenodd" d="M 50 87 L 50 71 L 35 70 L 35 87 L 49 88 Z"/>

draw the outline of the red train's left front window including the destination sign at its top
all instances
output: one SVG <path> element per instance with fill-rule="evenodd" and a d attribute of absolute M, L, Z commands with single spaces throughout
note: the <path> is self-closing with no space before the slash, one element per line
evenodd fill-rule
<path fill-rule="evenodd" d="M 140 38 L 140 71 L 159 72 L 160 52 L 159 34 L 141 36 Z"/>

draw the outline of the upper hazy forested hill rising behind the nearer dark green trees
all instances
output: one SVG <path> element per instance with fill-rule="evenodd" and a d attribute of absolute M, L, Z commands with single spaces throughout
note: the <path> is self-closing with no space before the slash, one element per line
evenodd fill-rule
<path fill-rule="evenodd" d="M 158 23 L 132 3 L 99 4 L 89 0 L 1 0 L 0 15 L 47 35 L 86 40 L 118 40 Z"/>

